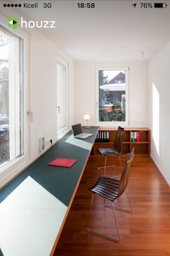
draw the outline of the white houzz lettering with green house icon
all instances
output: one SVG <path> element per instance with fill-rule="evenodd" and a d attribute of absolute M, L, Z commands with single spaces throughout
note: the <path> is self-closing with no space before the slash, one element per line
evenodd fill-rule
<path fill-rule="evenodd" d="M 9 16 L 9 27 L 11 27 L 13 30 L 15 30 L 18 27 L 17 18 L 14 18 L 13 16 Z M 26 20 L 23 20 L 23 17 L 21 17 L 20 20 L 21 28 L 55 28 L 55 21 L 54 20 L 40 20 L 40 21 L 33 21 L 30 20 L 27 22 Z"/>

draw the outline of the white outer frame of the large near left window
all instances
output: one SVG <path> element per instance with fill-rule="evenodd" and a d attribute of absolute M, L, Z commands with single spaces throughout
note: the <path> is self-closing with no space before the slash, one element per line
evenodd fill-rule
<path fill-rule="evenodd" d="M 11 161 L 0 167 L 0 187 L 4 186 L 10 179 L 14 178 L 19 172 L 23 170 L 29 160 L 29 119 L 26 115 L 28 108 L 28 35 L 17 28 L 17 32 L 6 27 L 6 18 L 2 16 L 0 27 L 5 33 L 9 33 L 16 38 L 19 38 L 19 90 L 20 95 L 20 111 L 22 112 L 21 122 L 21 154 Z"/>

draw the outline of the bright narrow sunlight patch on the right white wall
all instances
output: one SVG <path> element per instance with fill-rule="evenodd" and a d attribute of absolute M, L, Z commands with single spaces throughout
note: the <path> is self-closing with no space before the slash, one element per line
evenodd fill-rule
<path fill-rule="evenodd" d="M 153 141 L 156 145 L 156 151 L 159 155 L 159 93 L 156 86 L 152 85 L 153 90 Z"/>

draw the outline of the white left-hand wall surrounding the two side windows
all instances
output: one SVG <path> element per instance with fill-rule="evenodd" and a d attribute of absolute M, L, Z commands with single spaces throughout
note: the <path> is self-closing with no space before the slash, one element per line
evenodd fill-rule
<path fill-rule="evenodd" d="M 0 12 L 1 13 L 1 12 Z M 17 13 L 13 13 L 17 17 Z M 1 24 L 7 25 L 8 14 L 1 13 Z M 22 30 L 18 28 L 15 33 L 24 35 L 26 40 L 27 55 L 24 68 L 25 85 L 27 85 L 26 110 L 32 111 L 32 116 L 28 119 L 28 129 L 25 132 L 27 137 L 29 152 L 24 161 L 18 159 L 10 166 L 4 166 L 0 170 L 0 187 L 6 184 L 12 177 L 22 171 L 40 156 L 40 137 L 45 137 L 45 150 L 50 147 L 50 140 L 53 143 L 57 140 L 57 103 L 56 103 L 56 64 L 57 55 L 68 61 L 68 116 L 69 125 L 74 121 L 74 83 L 73 83 L 73 61 L 66 56 L 54 43 L 40 33 L 37 29 Z M 8 168 L 6 168 L 8 167 Z"/>

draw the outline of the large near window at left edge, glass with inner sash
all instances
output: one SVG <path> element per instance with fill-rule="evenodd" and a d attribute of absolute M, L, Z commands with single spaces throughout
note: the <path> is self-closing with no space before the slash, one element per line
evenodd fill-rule
<path fill-rule="evenodd" d="M 0 27 L 0 167 L 23 154 L 22 40 Z"/>

